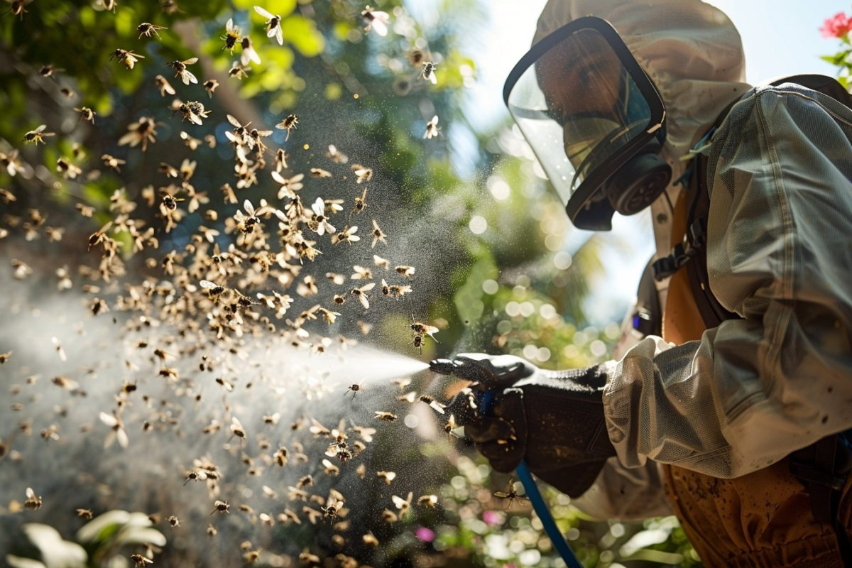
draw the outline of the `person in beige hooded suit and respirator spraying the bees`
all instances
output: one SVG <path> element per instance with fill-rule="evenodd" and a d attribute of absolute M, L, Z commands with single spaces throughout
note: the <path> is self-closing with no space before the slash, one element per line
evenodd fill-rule
<path fill-rule="evenodd" d="M 602 518 L 673 511 L 706 565 L 848 565 L 852 111 L 751 88 L 744 65 L 699 0 L 550 0 L 504 97 L 574 225 L 651 208 L 669 269 L 642 279 L 636 314 L 659 307 L 661 324 L 588 369 L 482 353 L 432 368 L 497 393 L 489 416 L 467 395 L 453 407 L 498 471 L 524 459 Z M 713 324 L 696 258 L 672 252 L 699 242 L 729 316 Z"/>

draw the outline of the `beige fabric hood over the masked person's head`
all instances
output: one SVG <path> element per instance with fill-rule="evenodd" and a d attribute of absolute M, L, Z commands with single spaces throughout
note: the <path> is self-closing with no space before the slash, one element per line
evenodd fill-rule
<path fill-rule="evenodd" d="M 740 34 L 721 10 L 699 0 L 550 0 L 533 45 L 583 16 L 607 20 L 659 91 L 665 105 L 662 155 L 680 177 L 680 158 L 745 83 Z M 670 198 L 676 188 L 669 186 Z"/>

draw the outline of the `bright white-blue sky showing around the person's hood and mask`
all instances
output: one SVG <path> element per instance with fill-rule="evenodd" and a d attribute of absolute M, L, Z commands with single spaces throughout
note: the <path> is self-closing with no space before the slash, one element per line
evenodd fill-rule
<path fill-rule="evenodd" d="M 503 123 L 508 112 L 503 102 L 503 83 L 509 71 L 529 49 L 538 14 L 545 0 L 481 0 L 490 20 L 484 32 L 474 34 L 469 49 L 476 57 L 477 85 L 469 90 L 470 123 L 488 129 Z M 429 0 L 412 0 L 419 6 Z M 746 80 L 762 83 L 770 78 L 797 73 L 834 75 L 835 69 L 820 55 L 832 54 L 838 40 L 820 36 L 823 20 L 839 11 L 849 13 L 849 3 L 839 0 L 711 0 L 740 31 L 746 54 Z M 574 235 L 566 244 L 576 248 Z M 586 236 L 586 238 L 588 235 Z M 597 281 L 589 313 L 599 324 L 619 320 L 636 291 L 642 267 L 653 253 L 649 215 L 614 220 L 613 232 L 605 235 L 602 256 L 606 273 Z M 619 286 L 607 283 L 619 282 Z"/>

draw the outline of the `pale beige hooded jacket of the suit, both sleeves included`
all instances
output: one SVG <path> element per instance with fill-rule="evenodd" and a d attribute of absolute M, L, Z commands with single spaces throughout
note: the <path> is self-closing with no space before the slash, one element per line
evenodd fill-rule
<path fill-rule="evenodd" d="M 612 23 L 659 89 L 676 180 L 678 158 L 749 89 L 738 32 L 698 0 L 551 0 L 534 41 L 584 15 Z M 714 295 L 743 319 L 681 346 L 648 337 L 630 348 L 603 398 L 618 460 L 580 508 L 663 514 L 654 462 L 737 477 L 852 427 L 850 141 L 852 112 L 797 85 L 759 88 L 731 110 L 708 164 L 707 267 Z M 672 202 L 679 191 L 667 189 Z M 667 255 L 665 199 L 653 218 Z M 659 291 L 665 302 L 665 283 Z"/>

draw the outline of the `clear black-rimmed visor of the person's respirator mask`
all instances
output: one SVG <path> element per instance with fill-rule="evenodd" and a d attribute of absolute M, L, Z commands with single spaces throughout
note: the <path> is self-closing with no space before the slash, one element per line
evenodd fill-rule
<path fill-rule="evenodd" d="M 659 94 L 618 33 L 596 17 L 537 43 L 509 74 L 504 99 L 573 221 L 663 132 Z"/>

